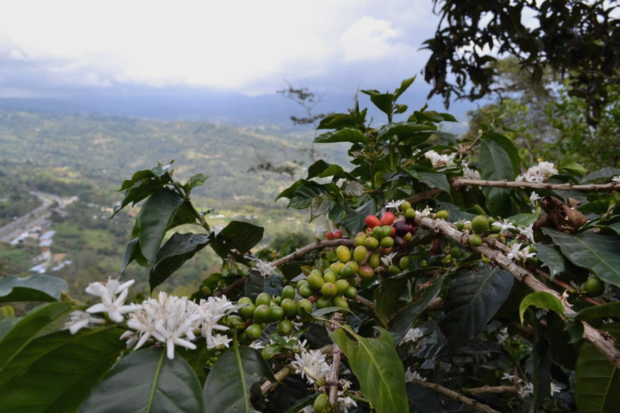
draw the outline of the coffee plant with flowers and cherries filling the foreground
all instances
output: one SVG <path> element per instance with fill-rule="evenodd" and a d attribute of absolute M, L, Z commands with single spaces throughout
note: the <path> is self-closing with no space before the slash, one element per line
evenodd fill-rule
<path fill-rule="evenodd" d="M 148 297 L 122 274 L 87 303 L 0 279 L 0 301 L 42 303 L 0 322 L 1 411 L 616 412 L 620 169 L 524 165 L 501 125 L 459 141 L 427 107 L 395 121 L 412 82 L 362 91 L 385 125 L 358 103 L 320 121 L 351 165 L 318 160 L 278 195 L 329 220 L 307 246 L 211 228 L 190 197 L 207 176 L 171 163 L 125 180 L 114 212 L 141 202 L 123 270 L 148 268 Z M 220 273 L 156 291 L 207 246 Z"/>

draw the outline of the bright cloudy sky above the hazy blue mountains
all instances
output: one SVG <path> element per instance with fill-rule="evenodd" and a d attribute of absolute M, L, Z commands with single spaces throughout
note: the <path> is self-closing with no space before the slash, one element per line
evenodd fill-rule
<path fill-rule="evenodd" d="M 392 89 L 419 74 L 432 0 L 15 0 L 0 96 L 118 84 L 273 93 Z M 418 87 L 428 90 L 419 76 Z M 43 91 L 43 92 L 42 92 Z"/>

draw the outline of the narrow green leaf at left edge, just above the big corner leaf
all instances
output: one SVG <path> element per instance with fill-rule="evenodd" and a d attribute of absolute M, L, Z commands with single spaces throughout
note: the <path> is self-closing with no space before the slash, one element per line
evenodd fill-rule
<path fill-rule="evenodd" d="M 13 324 L 0 341 L 0 385 L 6 379 L 6 369 L 42 330 L 56 324 L 74 308 L 65 301 L 41 304 L 30 310 L 24 317 Z"/>

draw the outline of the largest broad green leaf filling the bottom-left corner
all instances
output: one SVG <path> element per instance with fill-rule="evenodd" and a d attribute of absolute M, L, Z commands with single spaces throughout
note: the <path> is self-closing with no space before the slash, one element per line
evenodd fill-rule
<path fill-rule="evenodd" d="M 34 339 L 0 373 L 2 412 L 74 412 L 125 350 L 122 333 L 107 327 Z"/>

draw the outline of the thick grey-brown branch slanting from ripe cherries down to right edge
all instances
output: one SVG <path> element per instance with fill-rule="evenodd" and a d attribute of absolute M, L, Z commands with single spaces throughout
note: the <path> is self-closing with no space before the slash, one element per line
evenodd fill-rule
<path fill-rule="evenodd" d="M 513 260 L 510 260 L 504 252 L 498 251 L 496 248 L 491 248 L 486 244 L 482 244 L 481 246 L 469 245 L 469 236 L 466 233 L 457 230 L 453 224 L 446 222 L 445 220 L 431 220 L 431 218 L 416 217 L 415 223 L 424 229 L 430 229 L 435 233 L 440 233 L 446 237 L 450 237 L 463 245 L 467 245 L 474 251 L 484 254 L 485 257 L 513 274 L 517 280 L 526 284 L 526 286 L 530 289 L 534 291 L 544 291 L 555 295 L 564 307 L 564 315 L 570 316 L 576 314 L 575 310 L 572 310 L 568 304 L 561 299 L 561 296 L 556 290 L 552 290 L 541 282 L 533 273 L 526 270 L 526 268 L 519 266 L 517 263 L 513 262 Z M 614 363 L 615 366 L 620 368 L 620 351 L 618 351 L 615 347 L 615 340 L 612 336 L 593 328 L 586 322 L 583 322 L 583 339 L 592 343 L 592 345 L 595 346 L 601 354 Z"/>

